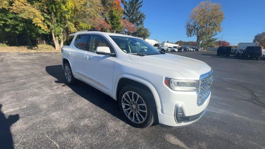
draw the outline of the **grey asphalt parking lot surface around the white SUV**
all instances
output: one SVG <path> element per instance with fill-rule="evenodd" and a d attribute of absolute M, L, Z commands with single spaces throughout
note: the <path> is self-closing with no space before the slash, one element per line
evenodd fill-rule
<path fill-rule="evenodd" d="M 265 148 L 265 60 L 170 53 L 214 70 L 206 114 L 178 129 L 131 127 L 109 96 L 66 83 L 61 53 L 0 53 L 0 148 Z"/>

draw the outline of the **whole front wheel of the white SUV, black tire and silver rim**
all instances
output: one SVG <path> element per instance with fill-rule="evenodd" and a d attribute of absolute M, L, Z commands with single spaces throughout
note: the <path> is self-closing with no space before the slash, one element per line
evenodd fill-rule
<path fill-rule="evenodd" d="M 153 112 L 156 110 L 152 108 L 153 102 L 152 93 L 133 85 L 123 87 L 118 99 L 122 115 L 136 128 L 147 128 L 153 124 Z"/>

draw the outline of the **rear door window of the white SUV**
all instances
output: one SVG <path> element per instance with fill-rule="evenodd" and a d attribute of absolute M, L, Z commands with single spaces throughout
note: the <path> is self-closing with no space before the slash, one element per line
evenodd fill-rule
<path fill-rule="evenodd" d="M 78 35 L 76 41 L 74 42 L 74 46 L 76 46 L 77 49 L 88 51 L 90 38 L 90 34 Z"/>

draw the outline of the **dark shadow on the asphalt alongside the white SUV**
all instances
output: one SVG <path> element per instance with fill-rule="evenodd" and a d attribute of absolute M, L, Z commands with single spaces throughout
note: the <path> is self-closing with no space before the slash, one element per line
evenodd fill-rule
<path fill-rule="evenodd" d="M 75 93 L 85 98 L 87 101 L 107 111 L 108 113 L 122 120 L 126 124 L 129 124 L 120 112 L 118 103 L 107 94 L 79 80 L 76 81 L 75 85 L 69 85 L 64 78 L 62 65 L 46 66 L 45 70 L 49 75 L 57 79 L 55 81 L 56 83 L 65 84 L 66 86 L 70 87 L 70 89 L 72 89 Z"/>

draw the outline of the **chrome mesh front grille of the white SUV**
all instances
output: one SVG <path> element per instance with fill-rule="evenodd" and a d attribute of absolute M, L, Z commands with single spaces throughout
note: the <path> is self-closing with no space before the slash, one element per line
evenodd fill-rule
<path fill-rule="evenodd" d="M 209 76 L 199 80 L 198 98 L 197 98 L 198 106 L 202 105 L 204 101 L 209 97 L 211 93 L 210 89 L 211 89 L 212 82 L 213 82 L 212 73 L 210 73 Z"/>

